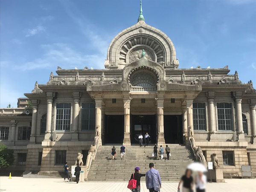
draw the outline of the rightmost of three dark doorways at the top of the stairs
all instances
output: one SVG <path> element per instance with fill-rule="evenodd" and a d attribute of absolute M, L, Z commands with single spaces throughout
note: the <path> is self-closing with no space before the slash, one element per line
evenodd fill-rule
<path fill-rule="evenodd" d="M 165 142 L 183 144 L 182 116 L 164 115 L 163 117 Z"/>

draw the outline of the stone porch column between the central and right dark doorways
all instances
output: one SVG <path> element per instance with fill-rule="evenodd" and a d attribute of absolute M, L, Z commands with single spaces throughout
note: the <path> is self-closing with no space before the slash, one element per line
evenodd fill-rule
<path fill-rule="evenodd" d="M 157 96 L 157 132 L 158 132 L 157 145 L 165 144 L 164 125 L 163 125 L 163 102 L 164 102 L 164 96 L 158 95 Z"/>

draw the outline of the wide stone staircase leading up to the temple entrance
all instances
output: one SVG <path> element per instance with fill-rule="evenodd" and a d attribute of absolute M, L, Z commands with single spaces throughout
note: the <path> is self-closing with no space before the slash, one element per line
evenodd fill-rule
<path fill-rule="evenodd" d="M 191 149 L 184 145 L 168 144 L 168 146 L 172 154 L 169 160 L 167 160 L 166 154 L 164 154 L 163 160 L 160 160 L 160 155 L 157 159 L 152 157 L 153 145 L 125 146 L 125 160 L 121 160 L 119 145 L 115 145 L 116 160 L 112 160 L 111 157 L 112 145 L 100 146 L 90 167 L 88 181 L 128 182 L 135 167 L 140 167 L 140 173 L 144 174 L 149 169 L 149 163 L 154 163 L 154 168 L 159 171 L 163 181 L 177 182 L 180 179 L 181 166 L 194 161 L 195 157 Z M 158 146 L 158 148 L 160 147 Z M 141 180 L 145 180 L 145 177 L 142 177 Z"/>

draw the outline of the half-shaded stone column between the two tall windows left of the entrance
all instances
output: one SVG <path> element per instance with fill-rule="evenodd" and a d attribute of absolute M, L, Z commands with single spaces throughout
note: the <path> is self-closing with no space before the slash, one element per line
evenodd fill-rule
<path fill-rule="evenodd" d="M 74 107 L 73 107 L 73 134 L 72 140 L 78 141 L 78 132 L 79 132 L 79 111 L 80 111 L 80 93 L 74 92 Z"/>

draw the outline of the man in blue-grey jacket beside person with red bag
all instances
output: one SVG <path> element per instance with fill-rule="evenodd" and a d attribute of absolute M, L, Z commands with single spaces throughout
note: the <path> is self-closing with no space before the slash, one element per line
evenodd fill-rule
<path fill-rule="evenodd" d="M 149 163 L 149 168 L 146 172 L 146 186 L 149 192 L 158 192 L 162 187 L 160 174 L 157 169 L 154 169 L 154 163 Z"/>

